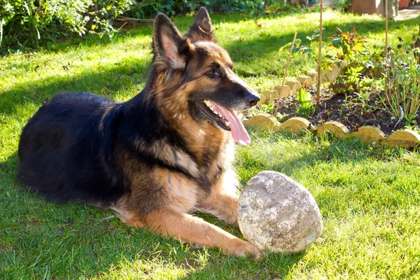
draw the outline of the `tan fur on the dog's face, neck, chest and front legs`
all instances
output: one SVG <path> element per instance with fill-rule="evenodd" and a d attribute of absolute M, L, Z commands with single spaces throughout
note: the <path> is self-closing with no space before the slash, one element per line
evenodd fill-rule
<path fill-rule="evenodd" d="M 158 20 L 165 21 L 162 16 Z M 153 37 L 155 79 L 146 97 L 148 102 L 154 100 L 165 122 L 185 142 L 188 153 L 172 145 L 171 139 L 165 137 L 153 144 L 134 141 L 138 151 L 170 166 L 167 168 L 163 164 L 161 167 L 151 167 L 137 160 L 135 155 L 119 151 L 117 165 L 126 173 L 131 191 L 111 208 L 130 226 L 147 226 L 162 235 L 182 241 L 220 247 L 224 253 L 236 256 L 251 254 L 258 258 L 263 252 L 252 244 L 190 215 L 195 211 L 204 211 L 237 225 L 239 182 L 231 169 L 235 148 L 230 141 L 230 132 L 207 122 L 197 123 L 190 116 L 188 105 L 191 94 L 218 85 L 218 79 L 205 75 L 213 67 L 212 64 L 226 69 L 228 76 L 236 76 L 232 72 L 228 52 L 214 43 L 206 10 L 200 10 L 197 22 L 201 22 L 202 26 L 193 25 L 184 47 L 193 53 L 200 47 L 206 55 L 201 59 L 190 59 L 188 73 L 193 77 L 184 81 L 183 71 L 187 67 L 183 63 L 185 57 L 179 55 L 176 49 L 176 38 L 181 34 L 176 29 L 172 30 L 172 25 L 166 23 L 165 27 L 160 28 L 155 21 L 155 30 L 160 30 L 161 34 L 155 32 Z M 171 30 L 174 34 L 170 34 Z M 200 31 L 204 33 L 200 34 Z M 207 41 L 200 41 L 204 39 Z M 160 42 L 159 48 L 156 42 Z M 199 182 L 204 182 L 205 186 L 199 186 Z"/>

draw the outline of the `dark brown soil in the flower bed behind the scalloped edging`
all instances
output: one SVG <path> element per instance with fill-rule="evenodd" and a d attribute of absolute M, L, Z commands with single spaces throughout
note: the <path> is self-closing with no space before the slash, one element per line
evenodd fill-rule
<path fill-rule="evenodd" d="M 314 106 L 316 106 L 315 90 L 309 88 L 308 91 L 312 94 L 312 101 Z M 372 92 L 370 98 L 363 104 L 358 100 L 357 94 L 345 97 L 344 95 L 323 91 L 320 94 L 320 108 L 316 109 L 314 115 L 307 117 L 307 119 L 314 126 L 328 121 L 337 121 L 345 125 L 349 132 L 356 131 L 363 125 L 373 125 L 389 135 L 393 131 L 403 128 L 404 122 L 398 123 L 397 118 L 380 109 L 384 108 L 384 106 L 381 104 L 378 94 L 377 92 Z M 295 96 L 283 97 L 278 102 L 279 113 L 284 116 L 281 121 L 297 116 L 300 103 L 296 102 Z M 275 106 L 276 103 L 274 104 Z M 416 123 L 420 123 L 419 114 L 417 114 Z"/>

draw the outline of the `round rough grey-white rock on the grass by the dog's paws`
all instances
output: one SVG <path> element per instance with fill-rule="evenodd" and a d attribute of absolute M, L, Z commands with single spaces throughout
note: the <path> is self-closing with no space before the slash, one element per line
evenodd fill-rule
<path fill-rule="evenodd" d="M 314 197 L 279 172 L 260 172 L 248 181 L 238 211 L 244 237 L 274 253 L 304 251 L 323 230 Z"/>

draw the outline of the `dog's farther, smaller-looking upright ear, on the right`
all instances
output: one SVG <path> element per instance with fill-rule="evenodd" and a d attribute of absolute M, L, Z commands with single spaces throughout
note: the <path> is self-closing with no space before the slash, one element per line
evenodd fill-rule
<path fill-rule="evenodd" d="M 212 41 L 216 43 L 207 8 L 200 8 L 195 16 L 195 22 L 190 26 L 190 31 L 188 31 L 187 36 L 191 41 Z"/>

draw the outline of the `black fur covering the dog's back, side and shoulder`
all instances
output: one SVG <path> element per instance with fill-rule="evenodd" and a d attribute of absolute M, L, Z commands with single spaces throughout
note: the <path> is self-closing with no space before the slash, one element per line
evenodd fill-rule
<path fill-rule="evenodd" d="M 165 137 L 187 151 L 179 134 L 163 121 L 153 100 L 144 102 L 142 93 L 121 104 L 88 93 L 57 94 L 22 132 L 19 176 L 48 200 L 107 206 L 130 192 L 124 172 L 115 164 L 117 146 L 124 147 L 146 167 L 158 165 L 193 177 L 181 167 L 141 153 L 133 144 L 134 139 L 142 139 L 147 146 Z"/>

